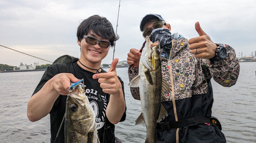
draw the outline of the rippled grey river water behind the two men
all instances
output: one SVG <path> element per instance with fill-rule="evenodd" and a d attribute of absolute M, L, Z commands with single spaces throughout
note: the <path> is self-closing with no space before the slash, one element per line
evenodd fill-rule
<path fill-rule="evenodd" d="M 240 63 L 237 84 L 223 88 L 212 81 L 212 116 L 222 124 L 227 142 L 256 142 L 256 62 Z M 108 69 L 105 69 L 108 71 Z M 44 71 L 0 73 L 0 142 L 50 142 L 50 117 L 30 122 L 27 104 Z M 116 125 L 122 142 L 144 142 L 145 127 L 135 126 L 140 101 L 132 98 L 127 68 L 117 68 L 124 81 L 127 116 Z"/>

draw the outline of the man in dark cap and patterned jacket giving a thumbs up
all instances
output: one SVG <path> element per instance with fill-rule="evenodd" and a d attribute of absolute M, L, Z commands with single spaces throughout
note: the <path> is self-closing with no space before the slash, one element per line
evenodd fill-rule
<path fill-rule="evenodd" d="M 238 79 L 240 65 L 234 49 L 215 44 L 196 22 L 199 37 L 187 40 L 171 27 L 161 15 L 142 18 L 140 31 L 152 42 L 159 41 L 162 76 L 170 84 L 162 104 L 168 116 L 157 123 L 157 142 L 226 142 L 221 124 L 211 117 L 214 101 L 211 78 L 223 87 L 231 87 Z M 127 54 L 130 81 L 138 75 L 142 48 Z M 139 88 L 131 88 L 132 96 L 140 99 Z"/>

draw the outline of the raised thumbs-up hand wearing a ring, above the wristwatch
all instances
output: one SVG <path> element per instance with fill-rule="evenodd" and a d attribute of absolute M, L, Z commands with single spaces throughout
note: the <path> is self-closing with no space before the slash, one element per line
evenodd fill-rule
<path fill-rule="evenodd" d="M 195 28 L 199 37 L 188 40 L 188 48 L 191 53 L 195 54 L 196 58 L 210 59 L 215 56 L 215 50 L 218 47 L 210 40 L 210 37 L 202 30 L 199 22 L 196 22 Z"/>

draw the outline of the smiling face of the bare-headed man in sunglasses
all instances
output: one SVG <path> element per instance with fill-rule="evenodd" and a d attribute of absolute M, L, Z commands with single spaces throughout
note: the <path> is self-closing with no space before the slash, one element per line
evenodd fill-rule
<path fill-rule="evenodd" d="M 109 41 L 109 39 L 103 39 L 93 31 L 90 31 L 87 36 L 91 36 L 99 40 Z M 81 47 L 80 61 L 87 63 L 90 67 L 92 65 L 100 66 L 102 59 L 105 58 L 110 49 L 110 47 L 106 49 L 101 48 L 98 43 L 96 45 L 90 45 L 84 38 L 81 39 L 81 41 L 77 41 L 77 43 Z"/>

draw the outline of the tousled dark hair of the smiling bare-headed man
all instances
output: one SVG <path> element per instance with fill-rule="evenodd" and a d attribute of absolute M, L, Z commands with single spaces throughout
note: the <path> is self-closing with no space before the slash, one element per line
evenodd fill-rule
<path fill-rule="evenodd" d="M 91 30 L 101 38 L 109 39 L 112 47 L 115 45 L 115 41 L 119 39 L 118 35 L 115 36 L 113 25 L 110 21 L 99 15 L 90 16 L 80 23 L 77 28 L 77 39 L 81 42 L 83 35 L 87 35 Z"/>

